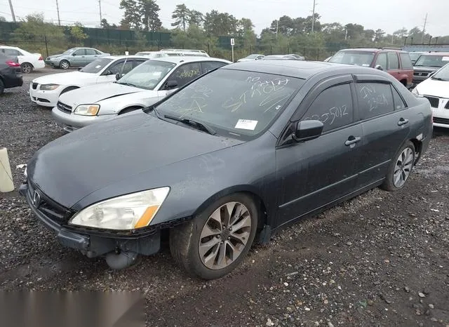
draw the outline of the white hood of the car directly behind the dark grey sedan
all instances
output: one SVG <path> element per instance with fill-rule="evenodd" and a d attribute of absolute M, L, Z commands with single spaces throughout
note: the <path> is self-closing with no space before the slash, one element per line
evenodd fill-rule
<path fill-rule="evenodd" d="M 63 93 L 59 100 L 66 105 L 93 104 L 101 100 L 115 98 L 120 95 L 145 91 L 142 88 L 126 86 L 118 83 L 99 84 L 88 88 L 78 88 Z"/>

